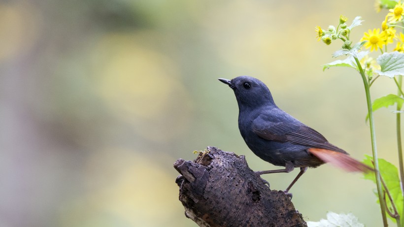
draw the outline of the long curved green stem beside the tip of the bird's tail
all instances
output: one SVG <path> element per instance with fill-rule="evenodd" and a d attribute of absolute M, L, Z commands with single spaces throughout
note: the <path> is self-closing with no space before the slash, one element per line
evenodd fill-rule
<path fill-rule="evenodd" d="M 354 57 L 356 64 L 358 65 L 359 72 L 362 76 L 363 84 L 365 86 L 365 94 L 366 94 L 366 101 L 368 104 L 368 114 L 369 114 L 369 125 L 370 125 L 370 138 L 371 138 L 371 146 L 372 146 L 372 156 L 374 162 L 374 174 L 376 176 L 376 187 L 377 187 L 377 195 L 379 197 L 380 202 L 380 210 L 381 216 L 383 219 L 383 226 L 387 227 L 387 216 L 386 216 L 386 204 L 383 199 L 383 189 L 380 180 L 380 171 L 379 171 L 379 160 L 377 157 L 377 148 L 376 148 L 376 133 L 374 131 L 374 123 L 373 123 L 373 111 L 372 111 L 372 103 L 370 99 L 370 87 L 368 80 L 366 78 L 365 72 L 362 69 L 362 65 L 359 62 L 358 58 Z"/>

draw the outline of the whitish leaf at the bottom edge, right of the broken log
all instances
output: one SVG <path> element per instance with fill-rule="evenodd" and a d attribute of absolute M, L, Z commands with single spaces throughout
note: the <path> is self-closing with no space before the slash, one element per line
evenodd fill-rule
<path fill-rule="evenodd" d="M 327 220 L 321 219 L 319 222 L 307 222 L 308 227 L 365 227 L 359 223 L 358 218 L 352 213 L 336 214 L 334 212 L 327 213 Z"/>

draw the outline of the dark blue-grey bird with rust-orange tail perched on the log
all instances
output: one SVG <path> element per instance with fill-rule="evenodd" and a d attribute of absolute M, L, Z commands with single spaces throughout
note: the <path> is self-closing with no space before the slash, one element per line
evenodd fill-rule
<path fill-rule="evenodd" d="M 262 81 L 250 76 L 219 80 L 229 85 L 236 95 L 239 109 L 238 129 L 247 146 L 264 161 L 285 166 L 284 169 L 256 173 L 288 173 L 295 167 L 300 167 L 299 174 L 285 193 L 288 193 L 307 167 L 315 168 L 325 162 L 349 172 L 373 170 L 329 143 L 316 130 L 279 109 Z"/>

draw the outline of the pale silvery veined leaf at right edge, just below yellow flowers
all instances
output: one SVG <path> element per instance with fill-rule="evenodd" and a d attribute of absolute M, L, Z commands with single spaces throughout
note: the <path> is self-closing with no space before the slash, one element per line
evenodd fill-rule
<path fill-rule="evenodd" d="M 397 51 L 384 53 L 377 58 L 380 70 L 375 70 L 381 76 L 393 78 L 396 75 L 404 75 L 404 54 Z"/>

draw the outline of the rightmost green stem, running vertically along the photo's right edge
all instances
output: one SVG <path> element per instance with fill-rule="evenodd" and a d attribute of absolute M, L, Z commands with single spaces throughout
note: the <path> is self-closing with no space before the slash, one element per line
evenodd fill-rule
<path fill-rule="evenodd" d="M 397 81 L 396 77 L 394 77 L 394 81 L 397 84 L 397 88 L 398 88 L 398 96 L 404 96 L 403 90 L 401 89 L 402 86 L 402 82 L 403 82 L 403 77 L 399 76 L 399 81 Z M 401 110 L 402 105 L 397 104 L 397 111 Z M 401 144 L 401 114 L 397 113 L 396 114 L 396 131 L 397 131 L 397 151 L 399 154 L 399 168 L 400 168 L 400 179 L 401 179 L 401 194 L 404 197 L 404 164 L 403 164 L 403 148 L 402 148 L 402 144 Z M 404 207 L 404 201 L 403 201 L 403 207 Z M 404 226 L 404 209 L 402 211 L 401 215 L 401 225 Z"/>

